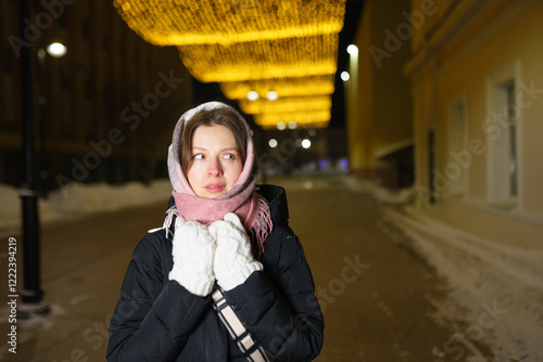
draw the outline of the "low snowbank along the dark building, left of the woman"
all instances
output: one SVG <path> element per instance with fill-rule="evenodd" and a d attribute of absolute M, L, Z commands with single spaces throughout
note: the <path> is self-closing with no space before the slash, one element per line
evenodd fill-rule
<path fill-rule="evenodd" d="M 105 183 L 73 183 L 63 191 L 52 192 L 47 199 L 39 198 L 39 218 L 42 223 L 62 221 L 85 215 L 115 211 L 167 201 L 172 193 L 169 180 L 156 180 L 150 185 L 129 182 L 113 186 Z M 21 197 L 13 186 L 0 185 L 0 229 L 21 225 Z"/>

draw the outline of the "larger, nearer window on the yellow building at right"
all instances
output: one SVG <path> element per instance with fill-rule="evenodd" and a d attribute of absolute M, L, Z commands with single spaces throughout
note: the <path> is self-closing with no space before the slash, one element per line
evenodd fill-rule
<path fill-rule="evenodd" d="M 489 202 L 513 207 L 519 195 L 518 121 L 516 104 L 519 66 L 509 66 L 491 77 L 489 83 Z"/>

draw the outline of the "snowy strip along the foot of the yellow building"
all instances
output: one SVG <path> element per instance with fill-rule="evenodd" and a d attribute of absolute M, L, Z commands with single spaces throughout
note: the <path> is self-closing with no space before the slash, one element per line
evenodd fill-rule
<path fill-rule="evenodd" d="M 498 245 L 409 208 L 386 209 L 383 219 L 386 231 L 452 289 L 445 301 L 434 301 L 432 316 L 455 331 L 434 348 L 435 357 L 487 361 L 478 347 L 485 345 L 492 361 L 543 361 L 543 250 Z"/>

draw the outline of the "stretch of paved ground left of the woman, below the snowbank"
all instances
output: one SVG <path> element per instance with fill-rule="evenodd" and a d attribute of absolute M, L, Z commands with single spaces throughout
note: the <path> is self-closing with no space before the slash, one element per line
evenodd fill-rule
<path fill-rule="evenodd" d="M 166 203 L 42 228 L 42 289 L 51 313 L 18 319 L 17 353 L 2 341 L 0 361 L 104 361 L 108 325 L 131 251 L 147 229 L 162 225 Z M 2 259 L 2 285 L 4 266 Z M 8 326 L 2 319 L 3 338 Z"/>

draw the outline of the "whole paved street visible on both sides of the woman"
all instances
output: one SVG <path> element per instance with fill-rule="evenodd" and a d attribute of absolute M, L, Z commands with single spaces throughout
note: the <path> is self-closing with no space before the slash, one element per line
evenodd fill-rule
<path fill-rule="evenodd" d="M 446 290 L 417 255 L 383 231 L 381 206 L 350 191 L 341 177 L 269 181 L 287 188 L 291 225 L 325 312 L 317 361 L 439 361 L 451 331 L 430 313 Z M 52 313 L 31 323 L 18 320 L 17 354 L 3 341 L 0 360 L 103 361 L 106 325 L 131 250 L 148 229 L 161 225 L 165 205 L 43 228 L 42 286 Z M 5 338 L 9 325 L 0 326 Z"/>

